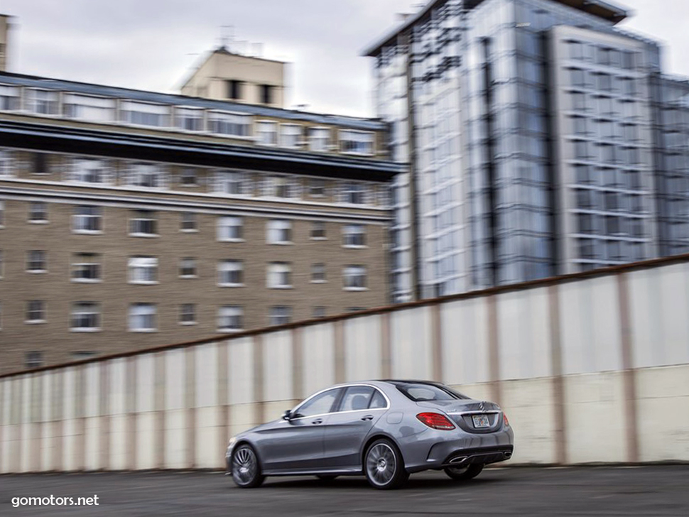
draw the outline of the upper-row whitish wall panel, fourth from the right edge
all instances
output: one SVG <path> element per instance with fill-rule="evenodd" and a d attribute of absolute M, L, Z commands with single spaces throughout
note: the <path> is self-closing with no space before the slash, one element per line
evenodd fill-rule
<path fill-rule="evenodd" d="M 440 308 L 444 382 L 466 385 L 489 381 L 488 311 L 472 298 Z"/>

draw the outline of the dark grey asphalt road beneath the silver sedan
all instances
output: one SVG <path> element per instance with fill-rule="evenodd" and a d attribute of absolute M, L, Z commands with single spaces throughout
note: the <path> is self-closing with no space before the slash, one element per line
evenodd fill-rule
<path fill-rule="evenodd" d="M 98 496 L 99 506 L 23 506 L 20 496 Z M 219 473 L 0 476 L 0 516 L 689 516 L 689 467 L 487 469 L 473 481 L 413 475 L 377 491 L 363 478 L 268 478 L 237 489 Z"/>

